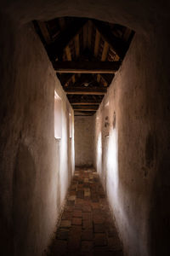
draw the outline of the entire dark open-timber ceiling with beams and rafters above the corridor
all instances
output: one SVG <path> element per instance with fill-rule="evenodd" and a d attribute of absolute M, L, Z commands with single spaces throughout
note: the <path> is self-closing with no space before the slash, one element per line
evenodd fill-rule
<path fill-rule="evenodd" d="M 33 21 L 75 115 L 93 115 L 132 41 L 125 26 L 86 18 Z"/>

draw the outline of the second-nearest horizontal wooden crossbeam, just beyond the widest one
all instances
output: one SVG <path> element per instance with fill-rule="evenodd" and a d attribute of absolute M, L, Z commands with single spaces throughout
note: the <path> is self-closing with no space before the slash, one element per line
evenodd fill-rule
<path fill-rule="evenodd" d="M 107 92 L 106 88 L 99 88 L 99 87 L 74 87 L 74 88 L 65 88 L 66 94 L 74 94 L 74 95 L 105 95 Z"/>

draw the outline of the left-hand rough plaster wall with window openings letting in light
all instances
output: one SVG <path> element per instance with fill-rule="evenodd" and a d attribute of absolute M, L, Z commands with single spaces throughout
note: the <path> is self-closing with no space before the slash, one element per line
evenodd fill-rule
<path fill-rule="evenodd" d="M 4 19 L 3 19 L 4 18 Z M 42 255 L 74 172 L 74 113 L 31 24 L 1 16 L 0 254 Z M 54 138 L 54 90 L 62 137 Z"/>

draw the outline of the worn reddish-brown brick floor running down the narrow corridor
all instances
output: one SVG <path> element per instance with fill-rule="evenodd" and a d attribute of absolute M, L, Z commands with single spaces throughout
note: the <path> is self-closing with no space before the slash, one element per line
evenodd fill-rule
<path fill-rule="evenodd" d="M 123 256 L 105 192 L 93 168 L 77 169 L 48 256 Z"/>

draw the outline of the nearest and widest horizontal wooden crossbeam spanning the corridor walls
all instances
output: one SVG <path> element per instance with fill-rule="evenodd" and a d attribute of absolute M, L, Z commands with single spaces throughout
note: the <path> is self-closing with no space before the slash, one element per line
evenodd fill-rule
<path fill-rule="evenodd" d="M 57 73 L 115 73 L 121 65 L 120 61 L 55 61 Z"/>

